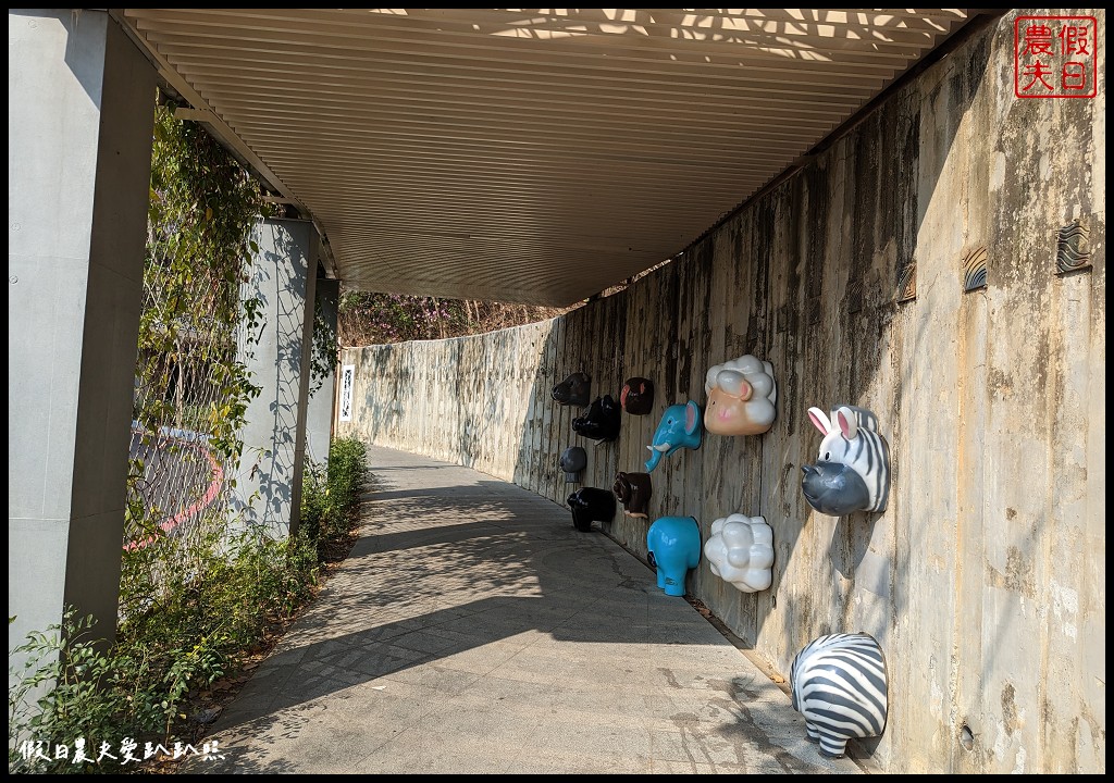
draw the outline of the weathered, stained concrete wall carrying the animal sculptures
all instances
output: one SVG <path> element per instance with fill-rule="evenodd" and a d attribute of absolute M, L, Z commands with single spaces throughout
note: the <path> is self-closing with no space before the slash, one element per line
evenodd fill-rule
<path fill-rule="evenodd" d="M 1103 11 L 1057 11 L 1097 17 Z M 962 43 L 682 258 L 567 316 L 477 337 L 351 349 L 339 433 L 452 460 L 557 502 L 570 444 L 584 486 L 641 471 L 666 405 L 754 353 L 779 414 L 761 437 L 705 434 L 653 473 L 651 519 L 763 515 L 772 587 L 706 562 L 690 593 L 773 666 L 827 633 L 874 635 L 889 722 L 860 750 L 900 773 L 1105 772 L 1105 98 L 1014 97 L 1013 14 Z M 1056 274 L 1079 218 L 1093 267 Z M 987 285 L 964 258 L 986 248 Z M 916 262 L 915 300 L 898 303 Z M 619 440 L 578 437 L 549 397 L 657 385 Z M 882 513 L 804 500 L 812 405 L 873 410 L 891 451 Z M 570 522 L 571 523 L 571 522 Z M 647 520 L 608 531 L 645 555 Z"/>

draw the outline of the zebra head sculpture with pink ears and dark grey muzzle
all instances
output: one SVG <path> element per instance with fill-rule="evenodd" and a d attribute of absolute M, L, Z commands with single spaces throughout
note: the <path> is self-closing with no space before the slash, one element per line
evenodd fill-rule
<path fill-rule="evenodd" d="M 890 454 L 874 414 L 864 408 L 840 405 L 831 419 L 819 408 L 810 408 L 809 419 L 824 435 L 817 463 L 801 466 L 801 489 L 809 505 L 832 517 L 885 511 Z"/>

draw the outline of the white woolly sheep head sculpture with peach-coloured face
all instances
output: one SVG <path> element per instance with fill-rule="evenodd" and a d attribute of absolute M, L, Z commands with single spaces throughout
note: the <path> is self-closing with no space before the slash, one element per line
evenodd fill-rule
<path fill-rule="evenodd" d="M 717 435 L 756 435 L 773 425 L 778 386 L 773 364 L 745 354 L 707 371 L 704 429 Z"/>

